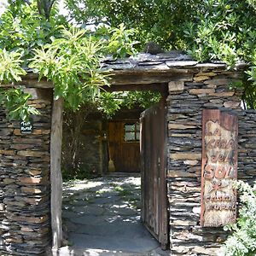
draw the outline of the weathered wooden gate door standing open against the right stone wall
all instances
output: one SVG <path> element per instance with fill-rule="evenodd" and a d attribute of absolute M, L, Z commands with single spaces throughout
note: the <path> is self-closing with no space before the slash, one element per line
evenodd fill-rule
<path fill-rule="evenodd" d="M 168 245 L 165 98 L 141 115 L 142 219 L 150 233 Z"/>

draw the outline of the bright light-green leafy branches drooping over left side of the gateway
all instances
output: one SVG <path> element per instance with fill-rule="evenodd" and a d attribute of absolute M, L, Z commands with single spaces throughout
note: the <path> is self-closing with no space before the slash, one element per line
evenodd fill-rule
<path fill-rule="evenodd" d="M 56 15 L 55 8 L 50 17 L 40 15 L 43 6 L 52 6 L 52 1 L 46 2 L 11 3 L 0 19 L 0 48 L 19 49 L 17 63 L 32 67 L 39 79 L 53 81 L 55 98 L 63 97 L 67 108 L 74 111 L 84 102 L 94 102 L 100 86 L 108 84 L 108 77 L 100 72 L 102 56 L 109 52 L 116 58 L 131 55 L 136 42 L 131 42 L 133 31 L 126 31 L 124 25 L 101 27 L 93 35 L 72 26 L 67 29 L 66 20 Z"/>

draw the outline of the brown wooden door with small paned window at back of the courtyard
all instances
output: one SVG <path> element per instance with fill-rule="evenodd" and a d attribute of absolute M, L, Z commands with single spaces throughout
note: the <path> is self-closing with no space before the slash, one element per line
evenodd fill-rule
<path fill-rule="evenodd" d="M 109 155 L 115 172 L 140 172 L 139 133 L 137 120 L 109 122 Z"/>

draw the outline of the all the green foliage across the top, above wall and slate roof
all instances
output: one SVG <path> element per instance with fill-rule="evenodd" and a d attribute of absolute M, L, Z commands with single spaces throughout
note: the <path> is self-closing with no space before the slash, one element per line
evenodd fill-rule
<path fill-rule="evenodd" d="M 251 63 L 244 97 L 249 108 L 256 107 L 254 0 L 66 0 L 68 17 L 59 15 L 54 2 L 9 0 L 0 17 L 2 84 L 19 81 L 20 67 L 29 66 L 54 82 L 56 99 L 63 97 L 68 108 L 79 109 L 108 84 L 100 66 L 104 55 L 133 55 L 154 41 L 163 49 L 183 49 L 201 62 L 221 60 L 230 68 L 237 61 Z M 93 32 L 79 28 L 91 24 Z M 9 90 L 1 90 L 6 106 L 8 95 Z M 16 108 L 10 117 L 26 119 L 31 109 L 21 114 L 19 101 L 11 98 Z"/>

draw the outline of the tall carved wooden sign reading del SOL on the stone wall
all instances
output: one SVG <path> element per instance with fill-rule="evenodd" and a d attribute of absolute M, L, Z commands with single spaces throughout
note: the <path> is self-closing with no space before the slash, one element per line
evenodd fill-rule
<path fill-rule="evenodd" d="M 218 109 L 202 113 L 201 226 L 218 227 L 236 221 L 236 115 Z"/>

